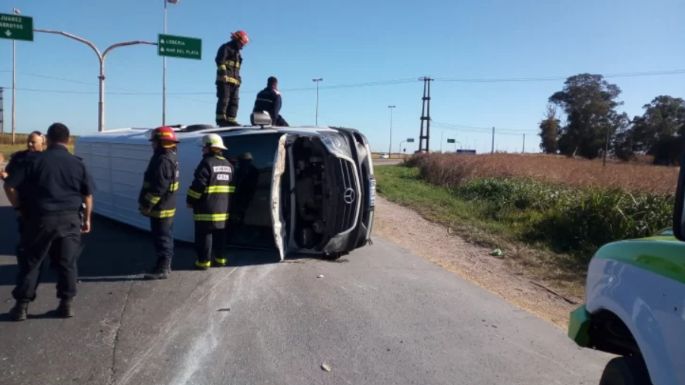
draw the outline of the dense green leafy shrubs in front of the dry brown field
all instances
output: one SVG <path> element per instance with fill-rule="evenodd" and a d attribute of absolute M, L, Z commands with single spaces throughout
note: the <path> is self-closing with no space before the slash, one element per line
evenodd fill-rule
<path fill-rule="evenodd" d="M 475 179 L 453 192 L 480 202 L 488 218 L 522 228 L 516 235 L 523 240 L 581 256 L 583 263 L 607 242 L 653 235 L 670 226 L 673 207 L 672 195 L 571 189 L 512 178 Z"/>

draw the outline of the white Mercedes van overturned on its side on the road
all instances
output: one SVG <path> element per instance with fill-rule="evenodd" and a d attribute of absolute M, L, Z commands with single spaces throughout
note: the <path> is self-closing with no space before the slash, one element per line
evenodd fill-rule
<path fill-rule="evenodd" d="M 185 191 L 200 162 L 200 140 L 220 135 L 234 166 L 228 242 L 291 254 L 338 258 L 366 245 L 373 226 L 376 182 L 366 137 L 333 127 L 180 126 L 174 237 L 193 241 Z M 138 191 L 152 155 L 149 128 L 109 130 L 78 138 L 75 152 L 95 181 L 95 212 L 141 229 Z"/>

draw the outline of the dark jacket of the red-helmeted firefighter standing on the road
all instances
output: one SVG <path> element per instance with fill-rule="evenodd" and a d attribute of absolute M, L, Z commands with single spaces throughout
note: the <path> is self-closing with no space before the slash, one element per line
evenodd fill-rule
<path fill-rule="evenodd" d="M 175 149 L 158 148 L 150 158 L 138 196 L 140 212 L 152 218 L 173 218 L 179 188 Z"/>

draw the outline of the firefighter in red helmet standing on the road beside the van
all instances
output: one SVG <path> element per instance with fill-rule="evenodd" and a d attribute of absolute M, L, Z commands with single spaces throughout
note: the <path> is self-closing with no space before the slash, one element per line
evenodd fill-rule
<path fill-rule="evenodd" d="M 138 196 L 141 214 L 150 218 L 150 230 L 157 262 L 145 274 L 146 279 L 166 279 L 174 256 L 173 223 L 176 214 L 176 191 L 179 188 L 179 168 L 176 157 L 178 139 L 171 127 L 152 131 L 150 142 L 154 154 L 150 158 L 143 188 Z"/>

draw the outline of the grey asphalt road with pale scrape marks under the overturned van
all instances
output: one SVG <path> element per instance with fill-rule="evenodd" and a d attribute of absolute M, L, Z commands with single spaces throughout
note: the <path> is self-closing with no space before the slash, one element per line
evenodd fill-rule
<path fill-rule="evenodd" d="M 339 262 L 236 251 L 208 272 L 178 245 L 171 278 L 151 282 L 147 234 L 97 217 L 76 317 L 54 318 L 47 272 L 30 318 L 10 322 L 16 231 L 1 195 L 3 385 L 595 384 L 609 358 L 382 239 Z"/>

